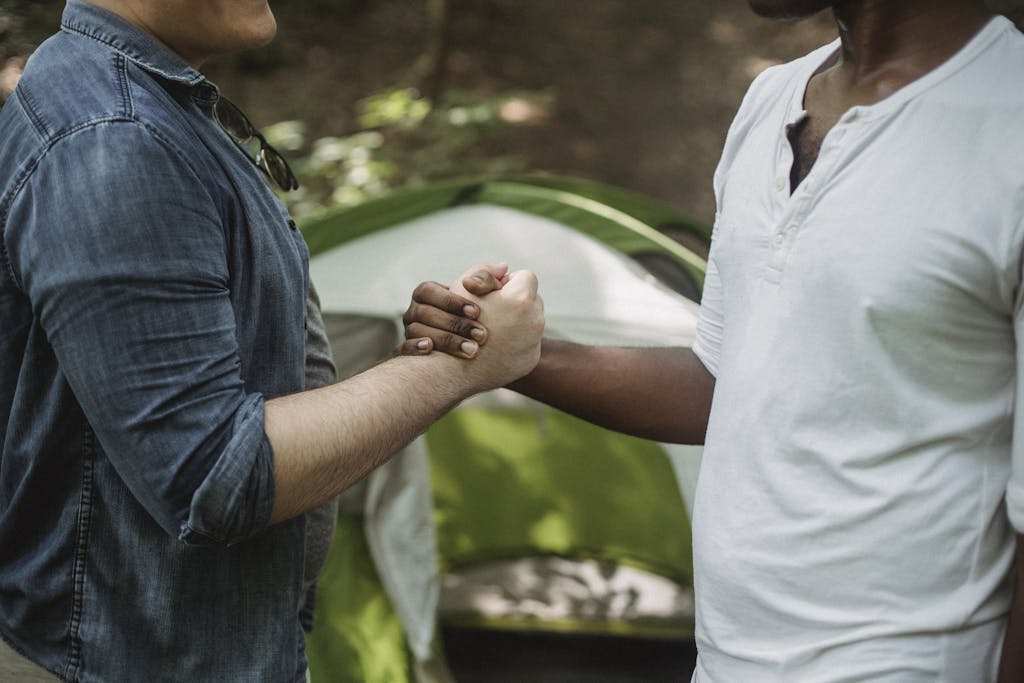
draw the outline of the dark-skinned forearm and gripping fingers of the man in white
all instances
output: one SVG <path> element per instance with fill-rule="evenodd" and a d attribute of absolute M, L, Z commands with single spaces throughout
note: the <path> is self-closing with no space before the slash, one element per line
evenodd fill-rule
<path fill-rule="evenodd" d="M 480 268 L 461 285 L 467 294 L 482 296 L 501 287 L 502 273 L 496 272 Z M 486 340 L 485 330 L 480 332 L 482 326 L 468 315 L 472 306 L 470 299 L 443 285 L 423 283 L 403 317 L 401 352 L 437 349 L 471 357 L 465 342 Z M 585 346 L 545 339 L 540 364 L 509 388 L 615 431 L 703 443 L 715 378 L 688 348 Z"/>

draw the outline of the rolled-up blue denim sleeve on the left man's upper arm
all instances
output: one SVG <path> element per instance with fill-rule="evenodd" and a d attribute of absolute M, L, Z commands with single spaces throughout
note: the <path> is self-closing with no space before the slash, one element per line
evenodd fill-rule
<path fill-rule="evenodd" d="M 241 375 L 223 220 L 183 155 L 142 125 L 111 122 L 46 153 L 6 234 L 105 456 L 186 543 L 246 539 L 273 505 L 263 396 Z"/>

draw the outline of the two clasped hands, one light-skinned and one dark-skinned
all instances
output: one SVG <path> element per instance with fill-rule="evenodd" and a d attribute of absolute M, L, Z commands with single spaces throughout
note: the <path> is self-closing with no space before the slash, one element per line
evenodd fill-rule
<path fill-rule="evenodd" d="M 478 264 L 451 287 L 421 283 L 402 316 L 402 355 L 442 351 L 472 359 L 463 372 L 483 391 L 528 375 L 541 358 L 544 302 L 537 276 L 507 265 Z"/>

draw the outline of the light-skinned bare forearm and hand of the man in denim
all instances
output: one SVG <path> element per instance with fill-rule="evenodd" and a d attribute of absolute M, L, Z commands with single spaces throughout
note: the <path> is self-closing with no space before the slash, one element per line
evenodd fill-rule
<path fill-rule="evenodd" d="M 266 401 L 275 523 L 337 496 L 460 400 L 528 373 L 540 357 L 543 304 L 531 273 L 473 304 L 489 344 L 473 362 L 401 356 L 345 382 Z"/>

